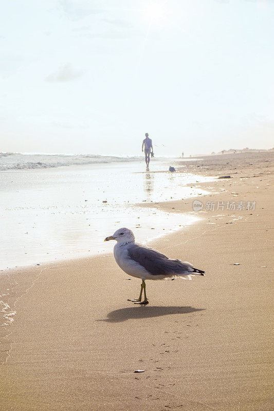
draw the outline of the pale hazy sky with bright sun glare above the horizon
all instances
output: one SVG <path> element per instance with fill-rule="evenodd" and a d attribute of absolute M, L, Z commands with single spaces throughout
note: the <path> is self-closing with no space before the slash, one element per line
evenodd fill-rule
<path fill-rule="evenodd" d="M 273 0 L 5 0 L 0 19 L 0 151 L 273 147 Z"/>

